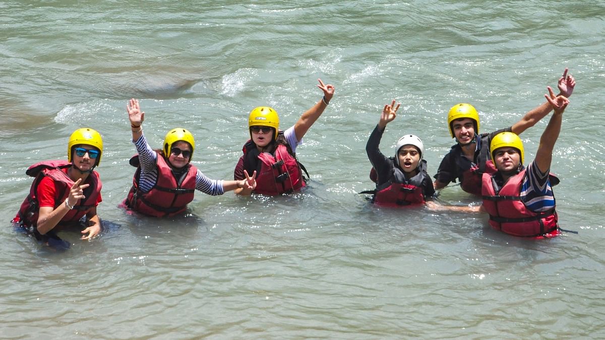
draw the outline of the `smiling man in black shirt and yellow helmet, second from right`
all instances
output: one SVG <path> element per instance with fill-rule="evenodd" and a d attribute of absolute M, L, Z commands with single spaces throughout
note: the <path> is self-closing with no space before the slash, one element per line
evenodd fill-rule
<path fill-rule="evenodd" d="M 559 95 L 571 96 L 575 87 L 575 79 L 567 74 L 558 80 Z M 460 182 L 463 191 L 474 195 L 481 194 L 482 174 L 486 171 L 486 162 L 489 160 L 489 144 L 492 138 L 500 132 L 514 132 L 521 134 L 534 126 L 540 119 L 551 112 L 552 106 L 545 102 L 529 111 L 525 116 L 509 128 L 485 134 L 479 134 L 479 114 L 473 105 L 460 103 L 454 105 L 448 114 L 448 128 L 450 135 L 456 139 L 456 145 L 443 157 L 434 176 L 435 189 L 444 188 L 451 182 Z"/>

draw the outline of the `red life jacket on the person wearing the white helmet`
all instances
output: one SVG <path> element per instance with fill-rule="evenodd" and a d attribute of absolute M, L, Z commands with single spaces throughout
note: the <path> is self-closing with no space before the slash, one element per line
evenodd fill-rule
<path fill-rule="evenodd" d="M 396 162 L 394 157 L 391 157 Z M 425 202 L 423 183 L 431 183 L 431 178 L 427 174 L 427 161 L 420 161 L 418 173 L 412 178 L 405 178 L 401 169 L 393 166 L 390 178 L 387 182 L 376 187 L 372 203 L 381 206 L 407 206 L 410 204 L 422 204 Z M 370 178 L 374 182 L 378 181 L 376 170 L 370 171 Z"/>

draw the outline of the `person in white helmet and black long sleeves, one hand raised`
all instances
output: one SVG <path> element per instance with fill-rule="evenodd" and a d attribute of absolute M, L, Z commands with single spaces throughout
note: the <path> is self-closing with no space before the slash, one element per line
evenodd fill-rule
<path fill-rule="evenodd" d="M 373 168 L 370 178 L 376 183 L 372 202 L 381 205 L 405 206 L 425 203 L 435 193 L 433 181 L 427 174 L 422 140 L 407 134 L 397 141 L 395 156 L 387 157 L 379 149 L 387 124 L 397 116 L 401 103 L 385 105 L 378 125 L 365 146 L 365 152 Z M 364 192 L 370 193 L 370 192 Z"/>

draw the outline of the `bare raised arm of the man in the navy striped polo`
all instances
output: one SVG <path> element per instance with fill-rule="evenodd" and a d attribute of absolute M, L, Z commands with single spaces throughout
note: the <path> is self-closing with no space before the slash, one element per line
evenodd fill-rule
<path fill-rule="evenodd" d="M 535 154 L 535 165 L 538 166 L 538 169 L 540 169 L 540 172 L 543 174 L 551 169 L 552 149 L 554 149 L 555 142 L 557 142 L 559 132 L 561 131 L 563 111 L 565 111 L 565 108 L 569 104 L 569 99 L 566 97 L 555 96 L 551 87 L 548 87 L 548 94 L 545 94 L 545 97 L 546 100 L 548 100 L 549 105 L 552 105 L 555 112 L 552 114 L 548 126 L 546 126 L 546 129 L 542 132 L 540 145 Z"/>

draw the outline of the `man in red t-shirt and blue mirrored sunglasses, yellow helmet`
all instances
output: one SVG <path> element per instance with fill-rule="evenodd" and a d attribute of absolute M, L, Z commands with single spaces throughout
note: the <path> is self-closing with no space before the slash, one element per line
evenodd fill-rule
<path fill-rule="evenodd" d="M 102 226 L 97 215 L 101 180 L 94 168 L 101 162 L 103 140 L 91 128 L 74 131 L 67 143 L 67 161 L 47 160 L 25 171 L 35 177 L 13 224 L 37 240 L 57 248 L 69 248 L 56 232 L 67 227 L 82 229 L 82 240 L 97 237 Z"/>

